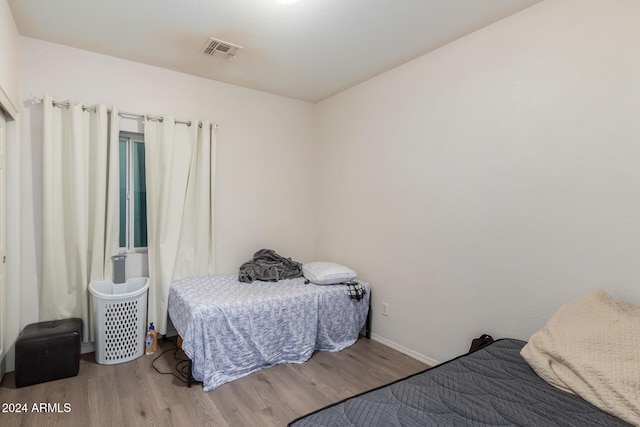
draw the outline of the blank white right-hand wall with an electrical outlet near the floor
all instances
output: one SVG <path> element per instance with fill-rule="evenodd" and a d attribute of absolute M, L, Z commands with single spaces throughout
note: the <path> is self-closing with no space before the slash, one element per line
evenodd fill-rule
<path fill-rule="evenodd" d="M 318 105 L 316 255 L 371 282 L 376 338 L 442 361 L 640 303 L 639 16 L 545 1 Z"/>

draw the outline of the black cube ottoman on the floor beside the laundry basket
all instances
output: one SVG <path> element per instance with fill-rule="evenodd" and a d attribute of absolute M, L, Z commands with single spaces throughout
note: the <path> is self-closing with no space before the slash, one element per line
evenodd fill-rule
<path fill-rule="evenodd" d="M 16 341 L 16 387 L 78 375 L 82 319 L 25 326 Z"/>

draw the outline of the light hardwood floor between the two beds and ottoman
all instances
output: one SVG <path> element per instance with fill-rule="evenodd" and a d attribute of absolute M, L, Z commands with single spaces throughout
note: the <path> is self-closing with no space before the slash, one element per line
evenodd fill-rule
<path fill-rule="evenodd" d="M 316 352 L 303 364 L 282 364 L 205 393 L 162 375 L 152 361 L 175 346 L 160 341 L 153 356 L 118 365 L 99 365 L 84 354 L 77 377 L 16 389 L 14 373 L 0 383 L 0 405 L 26 404 L 26 413 L 0 412 L 0 426 L 286 426 L 291 420 L 427 366 L 361 337 L 338 352 Z M 174 351 L 156 360 L 175 371 Z M 180 356 L 180 354 L 178 354 Z M 53 412 L 35 412 L 34 404 Z M 56 404 L 58 406 L 56 407 Z M 65 406 L 66 404 L 66 406 Z M 65 412 L 65 410 L 67 410 Z"/>

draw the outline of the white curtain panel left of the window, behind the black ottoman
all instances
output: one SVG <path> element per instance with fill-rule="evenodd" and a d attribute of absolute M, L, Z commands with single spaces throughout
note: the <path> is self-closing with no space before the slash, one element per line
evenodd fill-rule
<path fill-rule="evenodd" d="M 44 99 L 40 320 L 80 317 L 92 340 L 88 285 L 111 280 L 118 252 L 115 108 L 54 106 Z"/>

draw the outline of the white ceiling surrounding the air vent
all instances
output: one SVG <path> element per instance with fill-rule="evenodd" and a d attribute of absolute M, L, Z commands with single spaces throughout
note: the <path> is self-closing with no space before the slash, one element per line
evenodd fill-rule
<path fill-rule="evenodd" d="M 539 1 L 8 0 L 23 36 L 313 102 Z"/>

